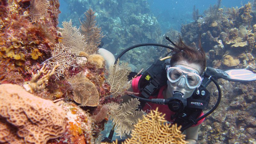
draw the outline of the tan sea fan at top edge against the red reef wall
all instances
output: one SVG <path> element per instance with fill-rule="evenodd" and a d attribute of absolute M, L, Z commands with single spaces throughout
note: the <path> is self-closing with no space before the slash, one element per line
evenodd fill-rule
<path fill-rule="evenodd" d="M 48 0 L 31 0 L 29 8 L 29 17 L 32 22 L 39 22 L 44 19 L 49 6 Z"/>

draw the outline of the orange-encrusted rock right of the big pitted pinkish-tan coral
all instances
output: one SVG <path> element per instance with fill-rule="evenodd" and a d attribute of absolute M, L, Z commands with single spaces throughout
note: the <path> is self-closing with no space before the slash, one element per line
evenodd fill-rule
<path fill-rule="evenodd" d="M 57 103 L 66 113 L 67 126 L 62 136 L 57 139 L 50 140 L 48 144 L 58 143 L 80 143 L 93 144 L 94 138 L 92 131 L 93 119 L 89 113 L 78 107 L 74 103 L 66 103 L 60 101 Z"/>

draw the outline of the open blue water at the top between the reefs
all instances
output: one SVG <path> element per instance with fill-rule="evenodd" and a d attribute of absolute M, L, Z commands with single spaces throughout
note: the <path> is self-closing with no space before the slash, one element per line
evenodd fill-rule
<path fill-rule="evenodd" d="M 220 7 L 231 8 L 237 6 L 239 8 L 248 2 L 249 0 L 222 0 Z M 150 10 L 157 18 L 162 33 L 167 32 L 169 29 L 180 31 L 182 24 L 192 22 L 194 5 L 196 9 L 199 10 L 199 15 L 203 15 L 204 10 L 216 3 L 217 0 L 148 0 Z M 111 7 L 109 7 L 109 9 L 111 9 Z M 60 0 L 60 11 L 60 19 L 63 19 L 66 14 L 70 14 L 68 5 L 64 0 Z"/>

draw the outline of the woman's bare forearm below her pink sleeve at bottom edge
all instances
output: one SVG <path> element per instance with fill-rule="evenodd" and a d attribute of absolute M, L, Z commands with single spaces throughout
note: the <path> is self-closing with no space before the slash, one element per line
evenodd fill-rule
<path fill-rule="evenodd" d="M 198 127 L 190 127 L 184 131 L 184 134 L 186 135 L 186 141 L 188 141 L 188 144 L 196 144 L 196 141 L 198 139 Z"/>

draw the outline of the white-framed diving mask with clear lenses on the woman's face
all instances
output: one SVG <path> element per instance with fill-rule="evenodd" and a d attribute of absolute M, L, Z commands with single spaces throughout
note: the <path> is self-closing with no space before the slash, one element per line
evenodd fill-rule
<path fill-rule="evenodd" d="M 184 78 L 182 79 L 182 77 Z M 181 66 L 167 66 L 167 78 L 171 83 L 178 82 L 182 79 L 190 89 L 198 87 L 202 82 L 201 76 L 199 76 L 196 71 Z"/>

